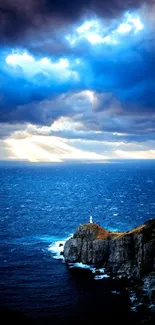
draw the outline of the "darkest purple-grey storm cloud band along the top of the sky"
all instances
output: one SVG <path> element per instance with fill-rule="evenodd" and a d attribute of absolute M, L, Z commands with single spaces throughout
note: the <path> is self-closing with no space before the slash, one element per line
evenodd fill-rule
<path fill-rule="evenodd" d="M 32 31 L 51 26 L 52 30 L 66 26 L 79 17 L 97 14 L 116 17 L 125 10 L 141 6 L 142 0 L 5 0 L 0 3 L 0 38 L 3 44 L 23 41 Z M 149 4 L 154 3 L 153 0 Z"/>

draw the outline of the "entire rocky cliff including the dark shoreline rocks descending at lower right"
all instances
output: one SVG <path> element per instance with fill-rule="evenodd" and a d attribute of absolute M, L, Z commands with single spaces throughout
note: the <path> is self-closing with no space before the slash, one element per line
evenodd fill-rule
<path fill-rule="evenodd" d="M 105 273 L 123 281 L 132 310 L 142 308 L 142 315 L 145 308 L 146 315 L 155 312 L 155 219 L 124 233 L 110 232 L 94 223 L 80 225 L 66 241 L 63 255 L 66 263 L 104 268 Z"/>

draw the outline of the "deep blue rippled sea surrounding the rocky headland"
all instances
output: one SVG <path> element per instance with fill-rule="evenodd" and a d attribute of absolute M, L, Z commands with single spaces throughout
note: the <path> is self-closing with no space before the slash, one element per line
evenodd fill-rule
<path fill-rule="evenodd" d="M 155 161 L 0 167 L 0 306 L 6 319 L 11 311 L 16 320 L 56 325 L 131 316 L 123 289 L 60 259 L 59 243 L 90 215 L 114 231 L 154 218 Z"/>

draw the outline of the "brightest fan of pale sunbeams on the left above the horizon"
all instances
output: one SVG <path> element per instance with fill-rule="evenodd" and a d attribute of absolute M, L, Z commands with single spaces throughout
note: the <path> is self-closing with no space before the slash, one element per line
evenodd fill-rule
<path fill-rule="evenodd" d="M 5 140 L 10 153 L 19 160 L 30 162 L 64 162 L 65 160 L 104 161 L 107 157 L 95 152 L 77 149 L 62 139 L 52 136 L 31 136 L 25 139 Z"/>

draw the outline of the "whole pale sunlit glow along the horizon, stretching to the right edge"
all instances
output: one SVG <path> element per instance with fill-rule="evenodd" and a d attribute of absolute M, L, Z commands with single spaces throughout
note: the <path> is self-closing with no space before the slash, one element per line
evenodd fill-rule
<path fill-rule="evenodd" d="M 62 139 L 51 136 L 32 136 L 25 139 L 10 138 L 4 141 L 10 152 L 10 159 L 27 160 L 29 162 L 65 162 L 94 161 L 105 162 L 109 159 L 155 159 L 155 150 L 121 150 L 113 151 L 112 156 L 104 156 L 91 151 L 77 149 Z M 108 144 L 108 142 L 106 143 Z M 117 148 L 121 143 L 109 143 Z"/>

